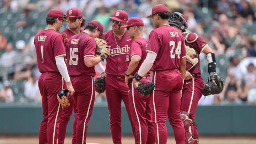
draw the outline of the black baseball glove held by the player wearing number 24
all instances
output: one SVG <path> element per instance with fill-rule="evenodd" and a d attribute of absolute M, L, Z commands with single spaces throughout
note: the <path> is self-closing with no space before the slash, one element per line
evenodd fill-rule
<path fill-rule="evenodd" d="M 135 88 L 137 92 L 142 94 L 143 96 L 149 95 L 155 88 L 155 85 L 153 82 L 140 82 L 139 85 Z"/>

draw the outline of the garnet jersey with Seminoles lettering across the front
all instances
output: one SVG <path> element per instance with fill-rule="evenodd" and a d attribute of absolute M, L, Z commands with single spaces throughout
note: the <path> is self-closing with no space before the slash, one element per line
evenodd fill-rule
<path fill-rule="evenodd" d="M 107 58 L 106 73 L 110 75 L 123 75 L 126 71 L 126 55 L 133 42 L 125 32 L 121 39 L 114 36 L 112 30 L 105 32 L 105 41 L 110 50 L 110 57 Z M 116 39 L 115 39 L 116 38 Z"/>

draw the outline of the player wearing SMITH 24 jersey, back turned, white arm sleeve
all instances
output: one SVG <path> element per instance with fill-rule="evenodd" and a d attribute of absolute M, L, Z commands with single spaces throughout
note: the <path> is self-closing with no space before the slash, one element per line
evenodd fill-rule
<path fill-rule="evenodd" d="M 184 144 L 185 130 L 180 117 L 182 79 L 186 72 L 186 49 L 184 38 L 168 23 L 169 12 L 165 5 L 155 5 L 152 15 L 155 29 L 149 35 L 147 56 L 135 73 L 134 87 L 138 81 L 153 70 L 155 90 L 151 92 L 152 121 L 157 144 L 166 144 L 166 115 L 174 130 L 176 144 Z"/>

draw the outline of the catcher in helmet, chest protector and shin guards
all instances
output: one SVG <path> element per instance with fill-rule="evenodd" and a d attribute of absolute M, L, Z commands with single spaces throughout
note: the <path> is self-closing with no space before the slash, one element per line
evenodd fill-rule
<path fill-rule="evenodd" d="M 196 33 L 185 33 L 188 28 L 186 18 L 179 12 L 172 12 L 169 24 L 183 34 L 186 46 L 186 75 L 181 98 L 181 119 L 185 128 L 185 144 L 198 144 L 197 125 L 194 122 L 197 103 L 210 94 L 223 90 L 223 79 L 216 73 L 216 60 L 213 50 Z M 206 85 L 201 78 L 199 54 L 204 53 L 208 60 L 209 78 Z"/>

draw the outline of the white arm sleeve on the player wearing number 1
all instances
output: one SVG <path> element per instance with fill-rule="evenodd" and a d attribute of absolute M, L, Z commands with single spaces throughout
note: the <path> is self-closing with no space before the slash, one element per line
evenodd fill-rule
<path fill-rule="evenodd" d="M 56 60 L 56 65 L 57 65 L 57 68 L 58 68 L 60 74 L 62 75 L 62 77 L 64 78 L 64 80 L 66 82 L 69 82 L 70 78 L 69 78 L 69 74 L 68 74 L 68 69 L 64 62 L 64 57 L 57 57 L 57 58 L 55 58 L 55 60 Z"/>

